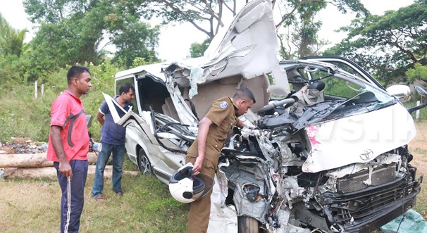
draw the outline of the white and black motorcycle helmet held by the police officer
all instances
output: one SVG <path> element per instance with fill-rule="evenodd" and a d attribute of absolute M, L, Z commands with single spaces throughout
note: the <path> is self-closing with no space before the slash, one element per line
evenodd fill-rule
<path fill-rule="evenodd" d="M 174 172 L 169 179 L 169 191 L 176 201 L 190 203 L 206 195 L 214 186 L 214 180 L 206 175 L 193 175 L 192 163 Z"/>

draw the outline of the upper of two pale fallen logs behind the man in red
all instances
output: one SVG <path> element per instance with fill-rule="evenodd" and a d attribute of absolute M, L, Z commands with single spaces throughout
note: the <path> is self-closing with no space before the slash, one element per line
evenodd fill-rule
<path fill-rule="evenodd" d="M 97 158 L 95 153 L 87 153 L 89 163 L 97 163 Z M 0 155 L 0 168 L 45 168 L 53 166 L 54 162 L 46 160 L 46 153 Z"/>

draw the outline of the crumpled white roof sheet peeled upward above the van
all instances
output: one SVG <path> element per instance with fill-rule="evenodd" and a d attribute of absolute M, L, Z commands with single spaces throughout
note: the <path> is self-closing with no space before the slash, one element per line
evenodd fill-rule
<path fill-rule="evenodd" d="M 270 91 L 285 95 L 290 90 L 286 74 L 280 70 L 278 48 L 271 1 L 254 0 L 242 8 L 229 27 L 216 34 L 202 58 L 174 62 L 165 69 L 166 76 L 178 70 L 195 87 L 235 75 L 250 79 L 273 73 L 276 85 Z"/>

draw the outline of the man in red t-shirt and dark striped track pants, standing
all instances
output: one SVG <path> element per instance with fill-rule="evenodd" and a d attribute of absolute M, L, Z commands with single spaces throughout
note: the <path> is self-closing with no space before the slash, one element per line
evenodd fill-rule
<path fill-rule="evenodd" d="M 78 232 L 87 178 L 89 133 L 80 96 L 92 84 L 89 68 L 73 65 L 67 73 L 68 89 L 51 107 L 47 160 L 54 161 L 61 186 L 61 232 Z"/>

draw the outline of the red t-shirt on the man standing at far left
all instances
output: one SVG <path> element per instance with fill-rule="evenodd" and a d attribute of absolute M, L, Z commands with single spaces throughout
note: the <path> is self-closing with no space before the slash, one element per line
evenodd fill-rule
<path fill-rule="evenodd" d="M 80 98 L 67 90 L 59 95 L 52 103 L 52 125 L 63 128 L 61 130 L 62 146 L 68 162 L 70 160 L 87 160 L 89 133 L 87 132 L 85 108 Z M 52 146 L 51 134 L 49 134 L 47 160 L 59 162 L 54 146 Z"/>

